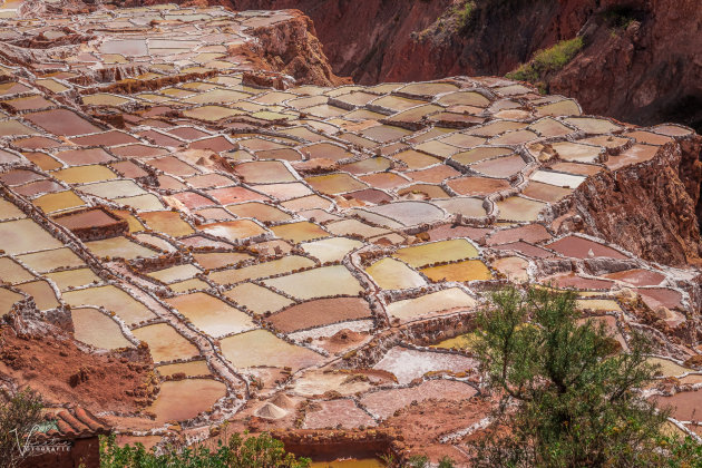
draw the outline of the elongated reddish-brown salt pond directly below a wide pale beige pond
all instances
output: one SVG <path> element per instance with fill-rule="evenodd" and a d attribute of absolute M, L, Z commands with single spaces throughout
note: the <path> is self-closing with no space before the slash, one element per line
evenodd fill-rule
<path fill-rule="evenodd" d="M 331 323 L 367 319 L 371 316 L 369 304 L 360 298 L 320 299 L 287 308 L 267 321 L 285 333 Z"/>

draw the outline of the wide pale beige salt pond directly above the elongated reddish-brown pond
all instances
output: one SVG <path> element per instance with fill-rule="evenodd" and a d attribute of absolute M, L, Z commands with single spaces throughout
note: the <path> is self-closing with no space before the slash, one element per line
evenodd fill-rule
<path fill-rule="evenodd" d="M 310 300 L 331 295 L 358 295 L 363 287 L 342 265 L 323 266 L 263 282 L 293 298 Z"/>

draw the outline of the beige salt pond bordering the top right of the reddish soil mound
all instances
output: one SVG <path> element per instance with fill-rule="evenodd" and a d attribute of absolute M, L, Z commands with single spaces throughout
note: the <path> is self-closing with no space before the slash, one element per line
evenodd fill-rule
<path fill-rule="evenodd" d="M 72 309 L 70 316 L 74 321 L 74 337 L 78 341 L 108 350 L 134 348 L 117 322 L 97 309 Z"/>

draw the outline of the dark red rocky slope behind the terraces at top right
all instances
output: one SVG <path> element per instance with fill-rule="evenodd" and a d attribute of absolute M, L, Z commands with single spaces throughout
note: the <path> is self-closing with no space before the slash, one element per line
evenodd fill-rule
<path fill-rule="evenodd" d="M 583 35 L 547 90 L 586 111 L 700 128 L 702 9 L 696 0 L 213 0 L 235 9 L 299 8 L 334 71 L 357 82 L 504 75 L 539 49 Z M 465 10 L 464 10 L 465 11 Z"/>

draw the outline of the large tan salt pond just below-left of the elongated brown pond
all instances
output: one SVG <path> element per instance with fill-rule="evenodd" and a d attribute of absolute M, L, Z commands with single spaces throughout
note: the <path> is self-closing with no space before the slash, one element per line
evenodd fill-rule
<path fill-rule="evenodd" d="M 322 357 L 302 347 L 290 344 L 266 330 L 225 338 L 221 341 L 222 353 L 235 368 L 257 365 L 289 367 L 293 372 L 313 365 Z"/>

